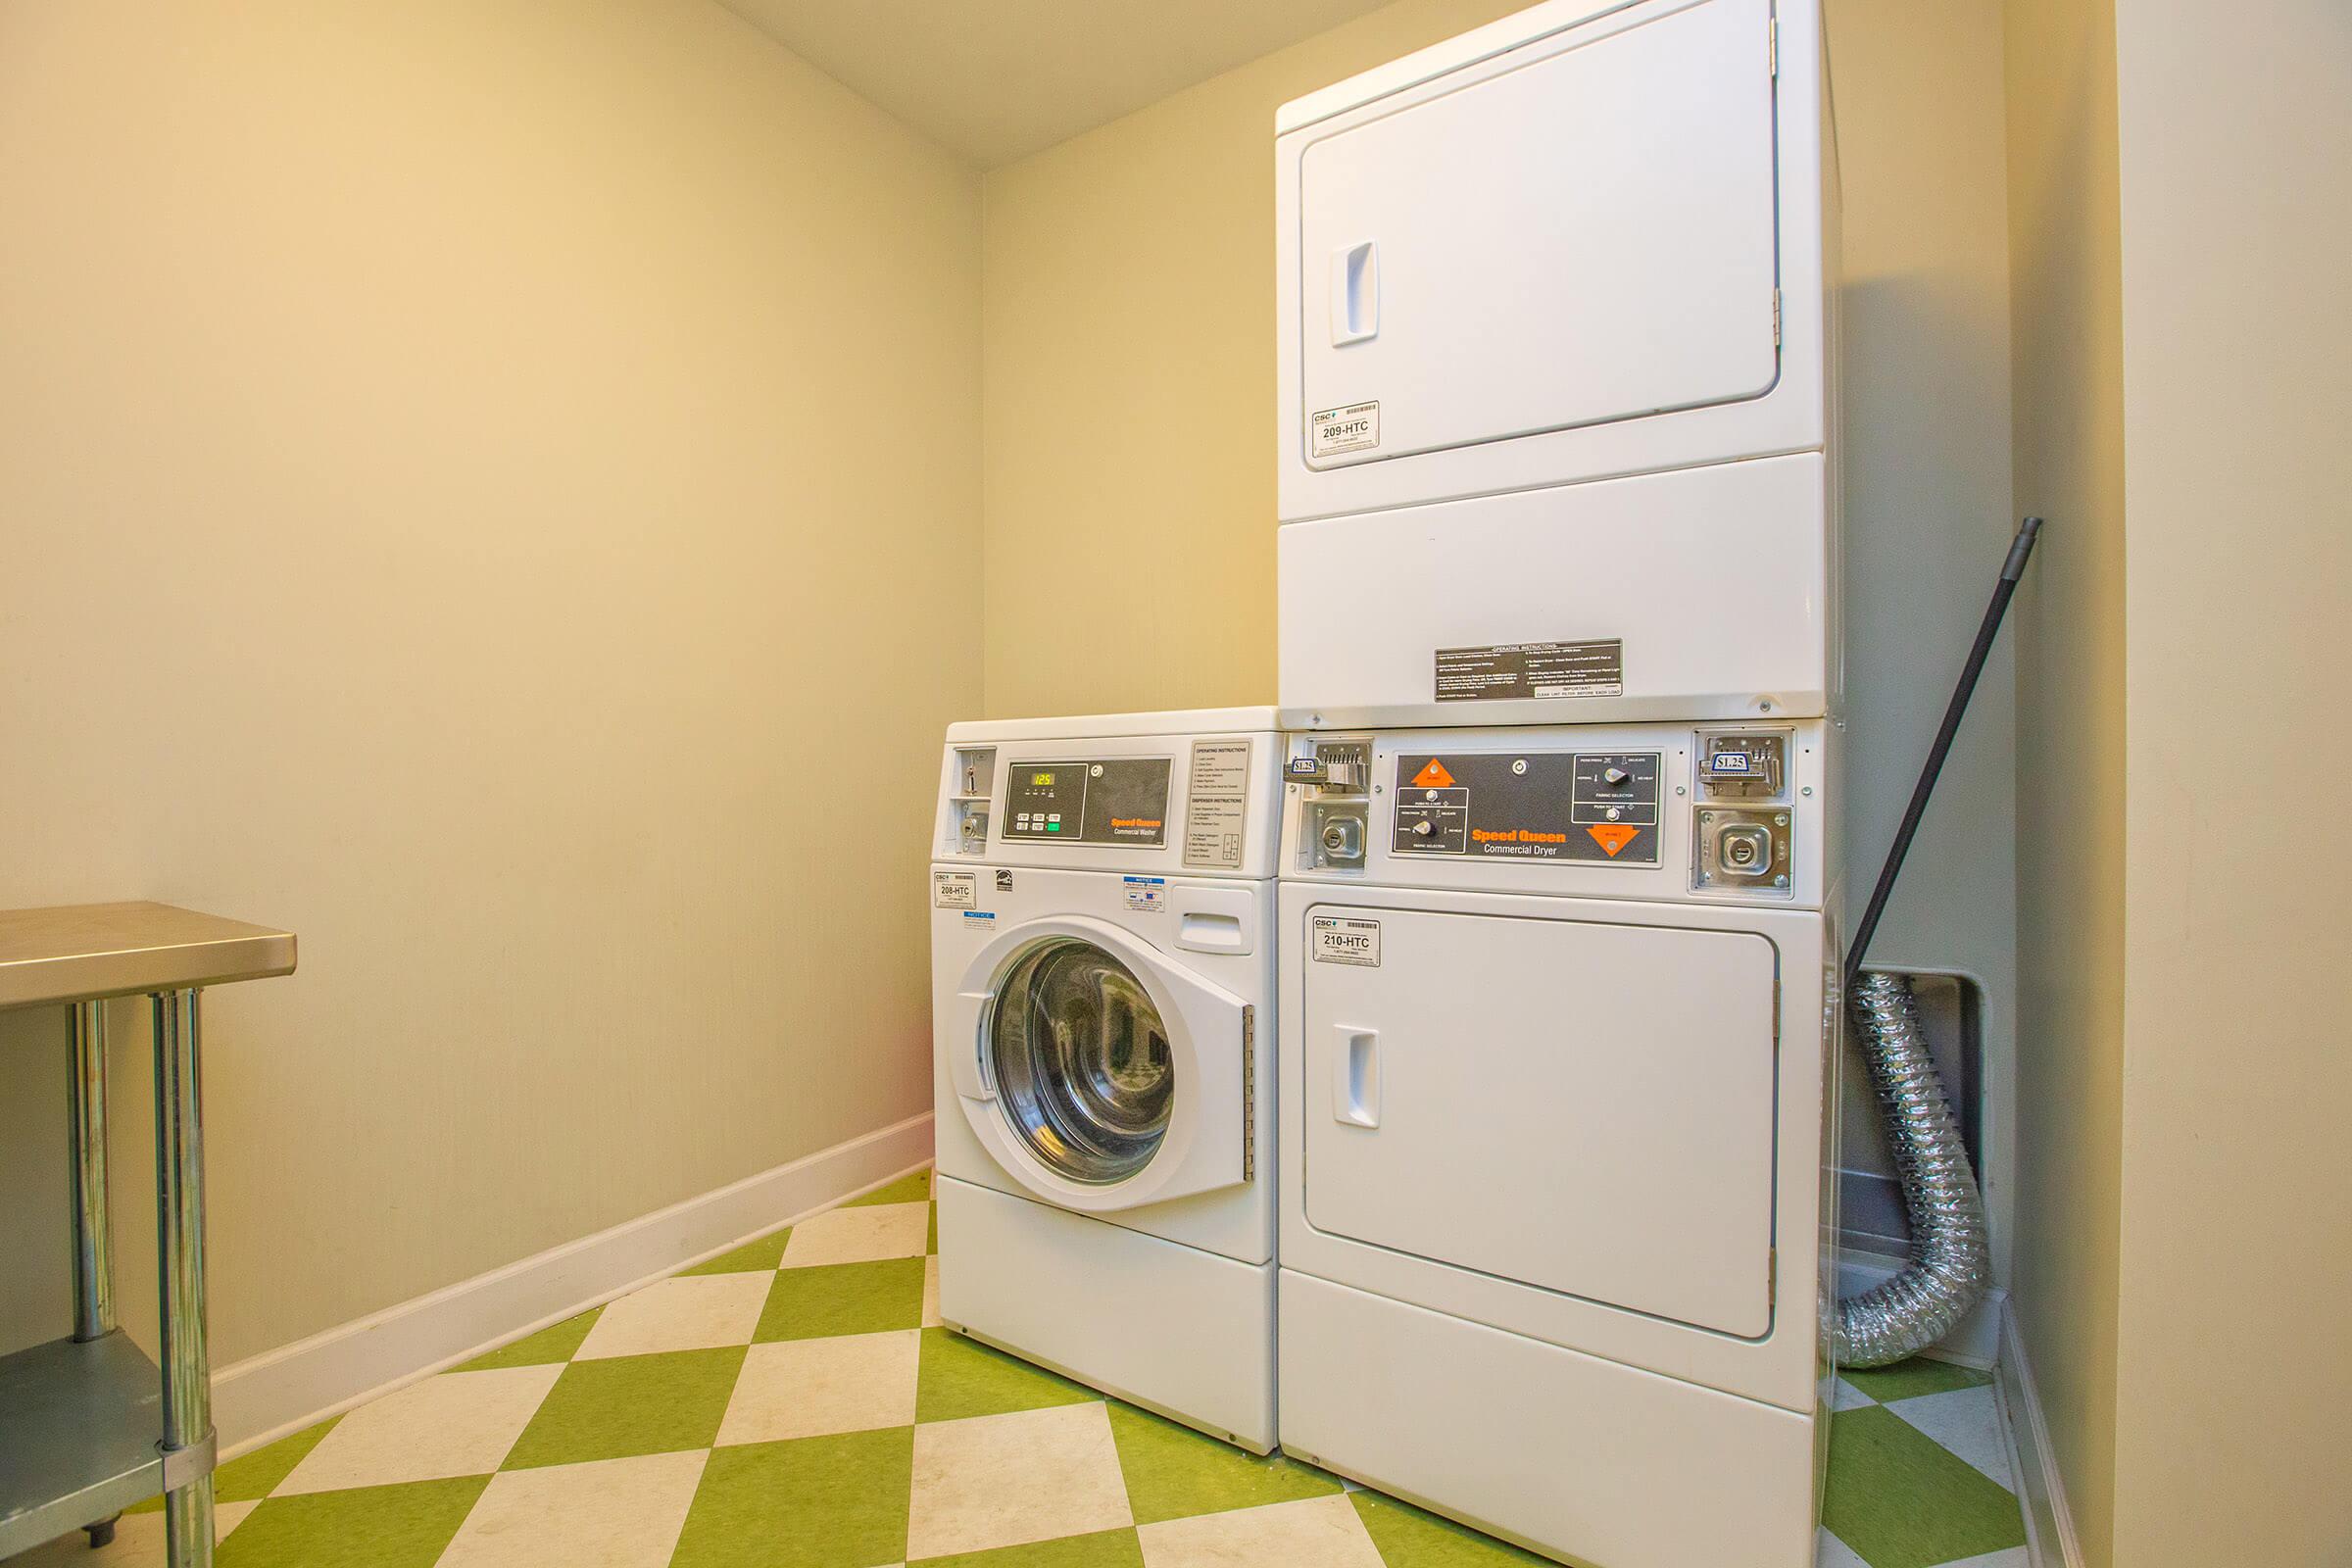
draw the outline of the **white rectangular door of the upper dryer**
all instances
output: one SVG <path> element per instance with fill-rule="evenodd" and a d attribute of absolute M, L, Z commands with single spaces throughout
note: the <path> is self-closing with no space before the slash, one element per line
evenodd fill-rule
<path fill-rule="evenodd" d="M 1635 7 L 1456 75 L 1298 155 L 1308 468 L 1771 390 L 1771 2 Z"/>

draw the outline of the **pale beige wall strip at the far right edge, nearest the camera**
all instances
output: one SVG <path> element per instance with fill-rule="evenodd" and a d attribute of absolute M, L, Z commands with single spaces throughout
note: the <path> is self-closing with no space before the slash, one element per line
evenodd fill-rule
<path fill-rule="evenodd" d="M 2117 7 L 2114 1561 L 2352 1561 L 2352 9 Z"/>

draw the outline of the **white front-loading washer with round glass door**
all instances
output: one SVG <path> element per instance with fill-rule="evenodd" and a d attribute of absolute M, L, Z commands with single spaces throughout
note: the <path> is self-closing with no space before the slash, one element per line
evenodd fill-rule
<path fill-rule="evenodd" d="M 1256 1453 L 1279 750 L 1270 708 L 957 724 L 931 863 L 941 1319 Z"/>

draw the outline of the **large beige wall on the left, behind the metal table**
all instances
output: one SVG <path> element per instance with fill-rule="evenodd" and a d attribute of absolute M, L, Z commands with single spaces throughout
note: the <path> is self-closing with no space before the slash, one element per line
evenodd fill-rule
<path fill-rule="evenodd" d="M 0 0 L 0 900 L 301 933 L 207 1013 L 216 1361 L 927 1110 L 974 174 L 708 5 Z"/>

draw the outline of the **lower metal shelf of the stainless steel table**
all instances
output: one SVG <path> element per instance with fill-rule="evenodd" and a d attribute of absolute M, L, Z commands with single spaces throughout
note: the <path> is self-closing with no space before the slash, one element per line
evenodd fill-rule
<path fill-rule="evenodd" d="M 0 1356 L 0 1556 L 78 1530 L 212 1469 L 169 1455 L 162 1375 L 122 1331 Z"/>

